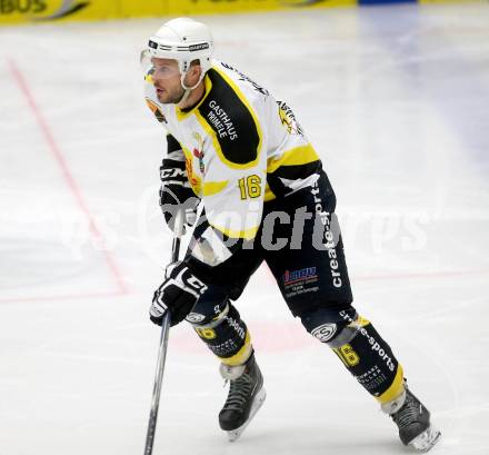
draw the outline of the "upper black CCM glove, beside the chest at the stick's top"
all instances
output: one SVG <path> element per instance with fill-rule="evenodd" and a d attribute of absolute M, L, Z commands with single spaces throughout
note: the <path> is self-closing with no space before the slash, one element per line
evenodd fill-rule
<path fill-rule="evenodd" d="M 197 219 L 200 199 L 190 188 L 184 162 L 163 159 L 160 178 L 160 206 L 169 228 L 174 230 L 174 217 L 179 210 L 184 211 L 184 224 L 192 226 Z"/>

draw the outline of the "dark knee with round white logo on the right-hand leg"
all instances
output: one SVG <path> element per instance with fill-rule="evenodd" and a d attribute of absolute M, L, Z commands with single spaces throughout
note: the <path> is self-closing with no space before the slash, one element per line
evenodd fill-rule
<path fill-rule="evenodd" d="M 349 343 L 357 334 L 357 311 L 351 305 L 340 308 L 317 308 L 300 315 L 302 325 L 315 338 L 336 348 Z"/>

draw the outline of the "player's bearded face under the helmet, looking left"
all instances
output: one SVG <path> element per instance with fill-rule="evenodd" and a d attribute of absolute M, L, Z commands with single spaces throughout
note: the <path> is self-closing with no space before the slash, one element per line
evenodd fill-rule
<path fill-rule="evenodd" d="M 152 79 L 157 97 L 163 105 L 177 103 L 183 96 L 180 71 L 176 60 L 152 58 Z"/>

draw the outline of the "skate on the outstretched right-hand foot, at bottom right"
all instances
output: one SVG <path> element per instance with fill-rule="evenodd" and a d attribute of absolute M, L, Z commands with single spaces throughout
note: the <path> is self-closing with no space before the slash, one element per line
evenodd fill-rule
<path fill-rule="evenodd" d="M 409 390 L 406 383 L 402 395 L 383 405 L 382 409 L 398 426 L 403 445 L 418 452 L 428 452 L 440 441 L 441 432 L 431 424 L 429 411 Z"/>

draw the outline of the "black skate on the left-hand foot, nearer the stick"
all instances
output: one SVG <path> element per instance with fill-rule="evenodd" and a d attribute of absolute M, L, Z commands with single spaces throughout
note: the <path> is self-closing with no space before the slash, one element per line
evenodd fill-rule
<path fill-rule="evenodd" d="M 228 398 L 219 413 L 219 425 L 230 442 L 238 439 L 265 402 L 263 377 L 255 354 L 244 365 L 221 364 L 221 376 L 230 383 Z"/>

